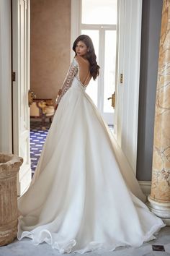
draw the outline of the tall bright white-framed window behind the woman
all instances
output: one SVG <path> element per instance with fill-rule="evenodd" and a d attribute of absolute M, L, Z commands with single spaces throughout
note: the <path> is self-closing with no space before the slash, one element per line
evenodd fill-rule
<path fill-rule="evenodd" d="M 86 88 L 108 124 L 113 124 L 114 109 L 107 98 L 115 91 L 117 0 L 81 0 L 80 34 L 94 43 L 100 75 Z"/>

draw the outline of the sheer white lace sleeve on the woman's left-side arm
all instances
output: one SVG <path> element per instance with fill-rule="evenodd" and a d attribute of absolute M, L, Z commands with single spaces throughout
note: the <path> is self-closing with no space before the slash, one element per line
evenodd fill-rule
<path fill-rule="evenodd" d="M 58 97 L 56 99 L 56 104 L 57 105 L 61 101 L 61 98 L 66 93 L 66 91 L 71 87 L 71 83 L 73 81 L 73 77 L 75 77 L 77 71 L 78 71 L 78 64 L 77 64 L 77 61 L 75 59 L 73 59 L 73 61 L 71 62 L 71 65 L 70 65 L 70 67 L 68 69 L 68 72 L 66 74 L 66 78 L 65 78 L 65 80 L 63 82 L 63 86 L 61 88 L 61 94 L 58 95 Z"/>

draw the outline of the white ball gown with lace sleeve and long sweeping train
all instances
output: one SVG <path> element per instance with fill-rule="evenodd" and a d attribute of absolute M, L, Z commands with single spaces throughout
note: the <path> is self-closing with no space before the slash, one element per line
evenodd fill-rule
<path fill-rule="evenodd" d="M 17 238 L 46 242 L 61 254 L 139 247 L 165 224 L 141 201 L 135 176 L 121 166 L 85 90 L 73 59 L 35 176 L 19 198 Z"/>

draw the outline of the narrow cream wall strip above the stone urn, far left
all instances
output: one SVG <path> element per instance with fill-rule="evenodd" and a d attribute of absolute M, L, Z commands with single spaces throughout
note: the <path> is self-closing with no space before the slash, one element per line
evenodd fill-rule
<path fill-rule="evenodd" d="M 0 152 L 12 153 L 11 0 L 0 1 Z"/>

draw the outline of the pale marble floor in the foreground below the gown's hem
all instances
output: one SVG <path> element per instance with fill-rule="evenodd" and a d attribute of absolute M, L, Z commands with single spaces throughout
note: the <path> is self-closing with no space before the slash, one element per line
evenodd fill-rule
<path fill-rule="evenodd" d="M 153 247 L 154 245 L 154 247 Z M 156 251 L 153 249 L 164 249 Z M 50 245 L 43 243 L 35 246 L 30 239 L 15 240 L 12 244 L 0 247 L 0 256 L 56 256 L 60 255 L 57 249 L 52 249 Z M 66 254 L 65 254 L 66 255 Z M 72 253 L 71 255 L 80 255 Z M 170 255 L 170 226 L 161 229 L 157 239 L 144 243 L 141 247 L 119 247 L 112 252 L 99 249 L 94 252 L 86 252 L 87 256 L 167 256 Z"/>

